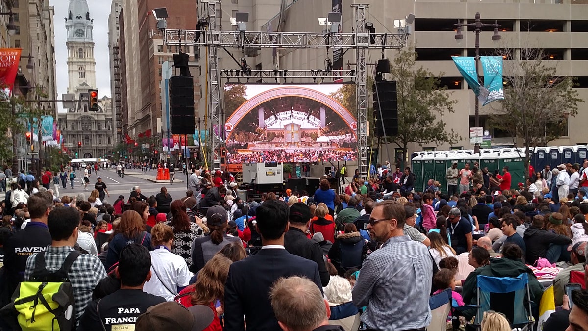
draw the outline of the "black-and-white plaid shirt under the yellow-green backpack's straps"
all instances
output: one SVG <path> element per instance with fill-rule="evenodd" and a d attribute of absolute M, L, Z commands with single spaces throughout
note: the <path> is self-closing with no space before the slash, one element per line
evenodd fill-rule
<path fill-rule="evenodd" d="M 45 268 L 49 272 L 56 272 L 64 264 L 65 258 L 72 250 L 74 250 L 74 247 L 47 246 L 47 250 L 45 251 Z M 35 257 L 37 254 L 32 254 L 26 260 L 25 282 L 28 282 L 31 274 L 35 270 Z M 74 289 L 76 319 L 79 320 L 82 317 L 83 310 L 86 309 L 86 306 L 92 300 L 94 287 L 105 277 L 106 270 L 104 270 L 102 262 L 100 262 L 97 256 L 92 254 L 82 254 L 72 264 L 68 272 L 68 279 Z"/>

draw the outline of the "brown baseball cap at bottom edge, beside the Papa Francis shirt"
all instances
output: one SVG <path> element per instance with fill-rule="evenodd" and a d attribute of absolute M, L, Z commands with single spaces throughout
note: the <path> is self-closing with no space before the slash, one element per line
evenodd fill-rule
<path fill-rule="evenodd" d="M 186 308 L 178 302 L 168 301 L 149 307 L 138 317 L 135 327 L 141 331 L 203 331 L 214 318 L 209 307 Z"/>

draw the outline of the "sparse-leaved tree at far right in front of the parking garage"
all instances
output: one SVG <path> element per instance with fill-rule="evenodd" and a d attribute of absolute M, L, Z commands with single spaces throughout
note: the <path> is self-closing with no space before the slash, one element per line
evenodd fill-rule
<path fill-rule="evenodd" d="M 528 167 L 530 147 L 545 145 L 567 134 L 568 118 L 584 102 L 574 90 L 572 77 L 557 74 L 557 62 L 548 61 L 543 49 L 523 47 L 520 51 L 500 49 L 503 61 L 504 100 L 495 103 L 492 122 L 523 141 L 524 164 Z"/>

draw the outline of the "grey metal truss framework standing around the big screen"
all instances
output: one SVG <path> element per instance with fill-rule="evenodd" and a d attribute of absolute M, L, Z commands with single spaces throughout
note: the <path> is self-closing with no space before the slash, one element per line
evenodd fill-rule
<path fill-rule="evenodd" d="M 201 31 L 164 29 L 163 42 L 166 45 L 203 46 L 208 49 L 209 117 L 211 121 L 212 168 L 220 169 L 221 155 L 225 148 L 223 139 L 224 118 L 220 104 L 220 80 L 227 84 L 356 84 L 358 109 L 358 163 L 359 172 L 366 176 L 369 171 L 368 160 L 368 95 L 366 87 L 366 51 L 368 49 L 394 49 L 406 46 L 406 34 L 370 34 L 366 28 L 366 9 L 369 5 L 353 4 L 355 26 L 353 33 L 335 32 L 262 32 L 262 31 L 220 31 L 217 29 L 216 13 L 220 11 L 221 1 L 202 0 L 205 10 L 203 18 L 208 28 Z M 243 70 L 220 69 L 218 67 L 218 48 L 343 48 L 355 49 L 356 68 L 343 70 Z"/>

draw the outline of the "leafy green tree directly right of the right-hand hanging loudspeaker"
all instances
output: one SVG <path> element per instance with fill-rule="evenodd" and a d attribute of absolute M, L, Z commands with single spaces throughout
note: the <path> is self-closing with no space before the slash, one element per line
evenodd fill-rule
<path fill-rule="evenodd" d="M 415 68 L 414 49 L 399 51 L 390 63 L 390 76 L 396 81 L 398 135 L 390 141 L 402 148 L 406 160 L 409 143 L 455 144 L 461 140 L 453 129 L 447 130 L 443 114 L 454 112 L 451 93 L 440 86 L 439 77 L 423 67 Z"/>

